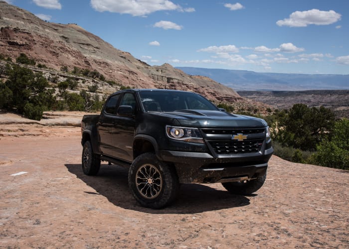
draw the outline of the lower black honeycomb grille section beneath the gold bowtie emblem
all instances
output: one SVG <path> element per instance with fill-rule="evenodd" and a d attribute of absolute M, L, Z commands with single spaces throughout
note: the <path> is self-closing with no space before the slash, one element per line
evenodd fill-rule
<path fill-rule="evenodd" d="M 258 152 L 261 150 L 264 139 L 244 141 L 208 141 L 217 154 L 237 154 Z"/>

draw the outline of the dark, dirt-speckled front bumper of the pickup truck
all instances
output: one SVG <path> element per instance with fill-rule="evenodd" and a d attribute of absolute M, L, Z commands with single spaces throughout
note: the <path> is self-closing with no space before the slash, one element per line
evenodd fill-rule
<path fill-rule="evenodd" d="M 254 179 L 263 176 L 273 147 L 264 153 L 241 153 L 213 157 L 205 152 L 160 150 L 161 160 L 173 163 L 180 183 L 215 183 Z"/>

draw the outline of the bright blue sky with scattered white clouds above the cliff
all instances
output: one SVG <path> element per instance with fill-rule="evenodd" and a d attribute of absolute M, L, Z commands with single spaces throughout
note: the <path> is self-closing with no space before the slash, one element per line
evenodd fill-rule
<path fill-rule="evenodd" d="M 348 0 L 6 0 L 150 65 L 349 74 Z"/>

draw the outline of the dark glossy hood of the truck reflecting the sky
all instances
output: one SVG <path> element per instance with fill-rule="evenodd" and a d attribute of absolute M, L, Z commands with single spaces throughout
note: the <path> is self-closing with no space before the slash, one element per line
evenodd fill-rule
<path fill-rule="evenodd" d="M 174 112 L 152 113 L 175 120 L 187 127 L 265 127 L 267 123 L 258 118 L 235 115 L 227 112 L 208 110 L 180 110 Z"/>

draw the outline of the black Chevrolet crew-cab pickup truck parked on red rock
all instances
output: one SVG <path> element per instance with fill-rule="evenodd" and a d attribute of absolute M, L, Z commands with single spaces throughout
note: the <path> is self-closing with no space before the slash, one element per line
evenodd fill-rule
<path fill-rule="evenodd" d="M 264 183 L 273 153 L 262 119 L 234 115 L 201 95 L 129 89 L 109 96 L 100 115 L 81 122 L 82 170 L 96 175 L 101 160 L 129 168 L 137 202 L 162 208 L 180 183 L 222 183 L 248 195 Z"/>

